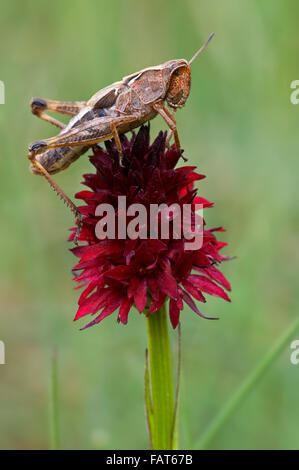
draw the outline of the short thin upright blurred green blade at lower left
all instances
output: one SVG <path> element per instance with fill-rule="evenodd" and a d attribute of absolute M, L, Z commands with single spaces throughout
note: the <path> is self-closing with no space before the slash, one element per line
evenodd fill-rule
<path fill-rule="evenodd" d="M 51 358 L 51 449 L 59 450 L 59 420 L 58 420 L 58 370 L 57 352 L 53 351 Z"/>

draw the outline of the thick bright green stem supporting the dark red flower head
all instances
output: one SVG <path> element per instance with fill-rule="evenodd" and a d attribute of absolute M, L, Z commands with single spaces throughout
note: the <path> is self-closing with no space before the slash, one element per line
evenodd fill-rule
<path fill-rule="evenodd" d="M 174 399 L 168 319 L 166 307 L 146 319 L 150 360 L 150 384 L 153 410 L 151 413 L 151 440 L 154 450 L 171 450 L 174 420 Z"/>

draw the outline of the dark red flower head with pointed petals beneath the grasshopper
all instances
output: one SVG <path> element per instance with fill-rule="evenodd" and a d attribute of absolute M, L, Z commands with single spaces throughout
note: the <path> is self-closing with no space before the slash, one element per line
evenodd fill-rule
<path fill-rule="evenodd" d="M 74 279 L 84 288 L 75 320 L 89 314 L 94 316 L 84 327 L 87 328 L 118 310 L 117 320 L 126 324 L 133 305 L 140 313 L 147 306 L 150 315 L 168 297 L 173 328 L 179 322 L 184 303 L 207 318 L 194 299 L 206 302 L 204 294 L 210 294 L 230 300 L 224 291 L 230 290 L 230 285 L 217 268 L 228 259 L 220 254 L 226 244 L 215 236 L 222 228 L 204 226 L 202 246 L 196 250 L 186 249 L 186 240 L 174 237 L 172 221 L 168 239 L 122 239 L 117 231 L 115 239 L 99 240 L 96 236 L 96 224 L 102 218 L 95 215 L 97 206 L 110 204 L 117 214 L 118 196 L 126 197 L 127 207 L 133 203 L 147 208 L 150 204 L 177 203 L 182 208 L 191 204 L 194 212 L 195 204 L 212 206 L 194 189 L 194 182 L 204 178 L 195 172 L 196 167 L 175 168 L 179 154 L 174 147 L 166 149 L 165 133 L 160 132 L 150 145 L 149 127 L 143 126 L 131 140 L 121 136 L 121 141 L 124 166 L 119 164 L 115 145 L 106 142 L 106 150 L 99 147 L 90 157 L 96 173 L 84 175 L 83 184 L 89 190 L 76 194 L 85 203 L 79 208 L 85 218 L 79 235 L 84 245 L 72 249 L 80 259 L 74 267 L 77 274 Z M 125 220 L 129 222 L 129 218 Z M 71 241 L 76 228 L 72 231 Z"/>

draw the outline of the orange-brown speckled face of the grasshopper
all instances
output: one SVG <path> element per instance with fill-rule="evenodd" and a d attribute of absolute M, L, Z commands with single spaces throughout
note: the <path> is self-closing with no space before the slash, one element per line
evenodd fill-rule
<path fill-rule="evenodd" d="M 191 86 L 191 69 L 185 59 L 174 60 L 171 65 L 171 75 L 166 102 L 170 108 L 182 108 L 189 96 Z"/>

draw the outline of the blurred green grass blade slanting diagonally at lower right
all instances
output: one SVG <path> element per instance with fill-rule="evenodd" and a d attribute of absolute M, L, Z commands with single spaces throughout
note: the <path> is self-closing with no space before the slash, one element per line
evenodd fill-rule
<path fill-rule="evenodd" d="M 251 392 L 256 383 L 263 377 L 265 372 L 269 369 L 277 356 L 289 343 L 292 336 L 299 328 L 299 319 L 297 318 L 288 330 L 279 338 L 277 343 L 265 355 L 262 361 L 251 372 L 245 382 L 236 391 L 231 400 L 224 406 L 222 411 L 216 416 L 214 421 L 210 424 L 208 429 L 204 432 L 196 445 L 196 449 L 207 449 L 210 443 L 215 438 L 216 434 L 221 430 L 226 421 L 231 417 L 234 411 L 238 408 L 240 403 L 244 401 L 247 395 Z"/>

